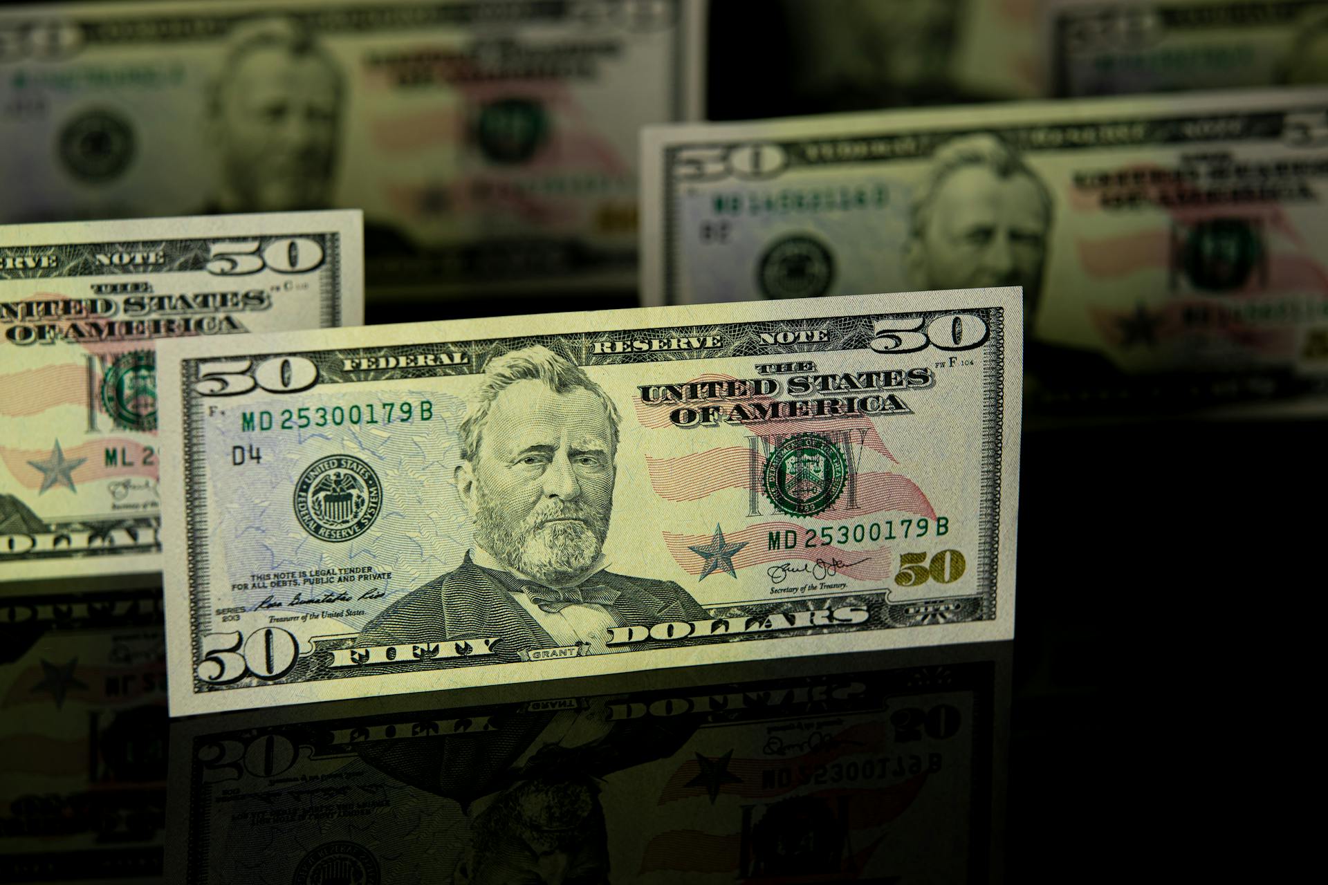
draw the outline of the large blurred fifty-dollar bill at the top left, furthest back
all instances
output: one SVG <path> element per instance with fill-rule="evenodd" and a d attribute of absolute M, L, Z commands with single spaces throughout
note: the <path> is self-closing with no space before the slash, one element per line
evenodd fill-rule
<path fill-rule="evenodd" d="M 363 208 L 374 295 L 629 287 L 684 0 L 0 12 L 0 222 Z"/>

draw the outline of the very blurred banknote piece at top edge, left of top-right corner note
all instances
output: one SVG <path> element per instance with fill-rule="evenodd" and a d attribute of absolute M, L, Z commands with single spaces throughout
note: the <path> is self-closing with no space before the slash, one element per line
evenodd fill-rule
<path fill-rule="evenodd" d="M 821 111 L 1040 94 L 1037 0 L 782 0 L 790 100 Z"/>

